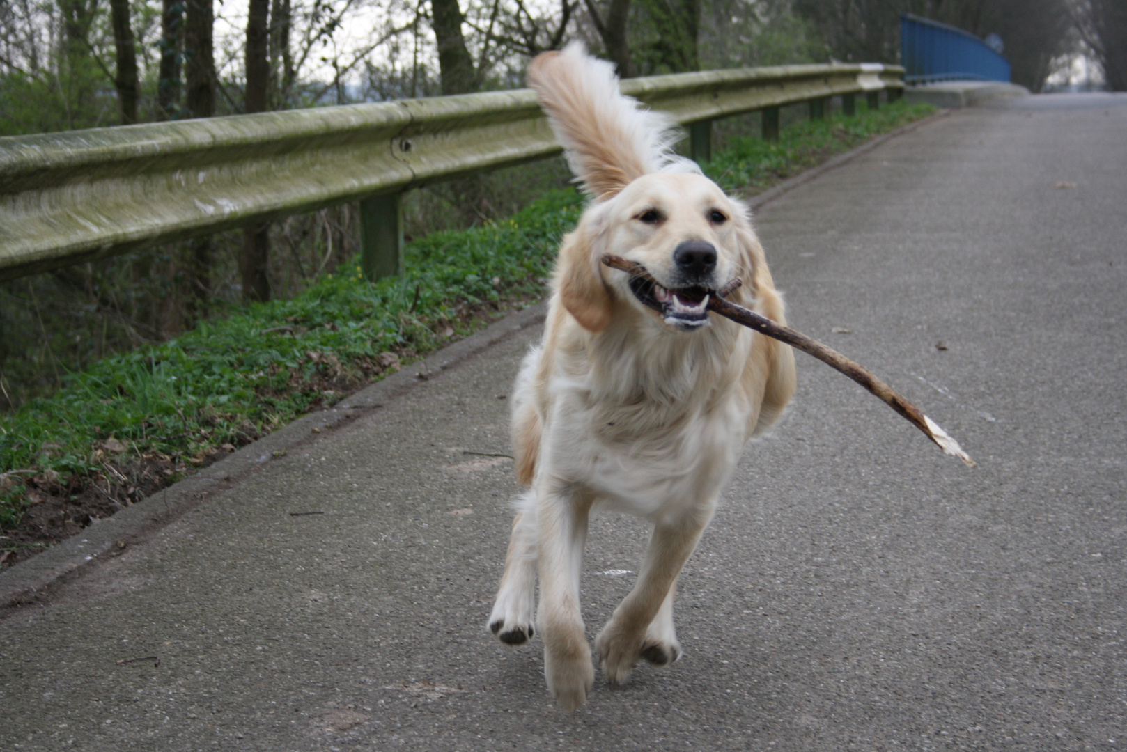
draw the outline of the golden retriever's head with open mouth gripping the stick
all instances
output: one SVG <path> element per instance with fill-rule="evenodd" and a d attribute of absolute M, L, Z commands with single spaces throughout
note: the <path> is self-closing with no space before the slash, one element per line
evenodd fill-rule
<path fill-rule="evenodd" d="M 604 253 L 641 264 L 657 283 L 604 267 Z M 658 326 L 695 331 L 709 324 L 709 297 L 734 278 L 754 295 L 761 257 L 743 204 L 702 175 L 655 172 L 587 210 L 561 250 L 558 284 L 588 330 L 601 331 L 627 307 Z"/>

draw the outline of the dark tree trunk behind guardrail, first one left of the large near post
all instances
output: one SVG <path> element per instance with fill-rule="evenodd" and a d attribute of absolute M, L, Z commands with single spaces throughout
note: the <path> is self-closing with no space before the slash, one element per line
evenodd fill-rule
<path fill-rule="evenodd" d="M 247 114 L 266 112 L 269 89 L 269 7 L 270 0 L 250 0 L 247 12 Z M 246 302 L 270 299 L 269 224 L 250 224 L 242 230 L 239 276 Z"/>

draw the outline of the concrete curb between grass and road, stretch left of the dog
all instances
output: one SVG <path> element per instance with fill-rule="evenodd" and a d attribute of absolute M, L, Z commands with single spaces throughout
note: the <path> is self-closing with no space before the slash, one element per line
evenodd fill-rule
<path fill-rule="evenodd" d="M 316 440 L 326 431 L 372 414 L 423 381 L 437 378 L 443 371 L 517 331 L 539 325 L 544 320 L 547 309 L 547 303 L 540 302 L 509 313 L 481 331 L 411 363 L 332 407 L 309 413 L 113 516 L 95 521 L 82 532 L 42 554 L 0 572 L 0 618 L 7 616 L 5 611 L 38 601 L 92 564 L 121 554 L 215 494 L 233 488 L 267 468 L 274 458 Z"/>

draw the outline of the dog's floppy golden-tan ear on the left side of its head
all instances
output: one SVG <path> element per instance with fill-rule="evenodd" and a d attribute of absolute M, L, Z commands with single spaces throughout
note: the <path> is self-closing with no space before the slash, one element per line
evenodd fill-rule
<path fill-rule="evenodd" d="M 602 233 L 580 223 L 564 239 L 556 264 L 556 289 L 560 302 L 584 329 L 598 334 L 614 317 L 614 297 L 603 280 Z"/>

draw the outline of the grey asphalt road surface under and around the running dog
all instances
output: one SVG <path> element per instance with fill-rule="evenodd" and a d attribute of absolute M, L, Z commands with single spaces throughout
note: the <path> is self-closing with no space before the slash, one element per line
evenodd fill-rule
<path fill-rule="evenodd" d="M 761 211 L 791 324 L 979 467 L 799 354 L 683 575 L 680 663 L 566 714 L 539 638 L 483 628 L 532 329 L 0 621 L 0 746 L 1127 747 L 1125 144 L 1127 96 L 999 101 Z M 592 635 L 644 542 L 594 522 Z"/>

